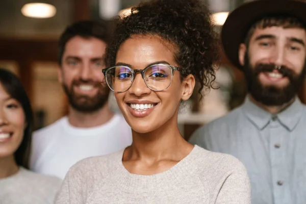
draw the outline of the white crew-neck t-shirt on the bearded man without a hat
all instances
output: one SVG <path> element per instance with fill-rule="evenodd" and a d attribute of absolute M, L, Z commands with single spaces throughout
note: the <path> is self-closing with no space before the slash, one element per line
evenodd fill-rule
<path fill-rule="evenodd" d="M 64 179 L 78 161 L 111 154 L 132 143 L 131 127 L 121 115 L 90 128 L 72 126 L 65 116 L 33 134 L 31 170 Z"/>

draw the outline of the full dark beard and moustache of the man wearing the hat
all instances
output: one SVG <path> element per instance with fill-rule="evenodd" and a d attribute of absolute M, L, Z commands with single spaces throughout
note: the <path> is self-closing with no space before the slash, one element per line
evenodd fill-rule
<path fill-rule="evenodd" d="M 299 88 L 302 86 L 306 71 L 304 66 L 302 72 L 296 74 L 292 69 L 282 66 L 277 70 L 283 77 L 288 78 L 288 85 L 284 87 L 262 85 L 259 80 L 259 74 L 261 72 L 272 72 L 274 69 L 275 64 L 257 64 L 255 67 L 252 67 L 246 54 L 243 71 L 248 92 L 256 101 L 266 106 L 281 106 L 289 103 L 297 95 Z"/>

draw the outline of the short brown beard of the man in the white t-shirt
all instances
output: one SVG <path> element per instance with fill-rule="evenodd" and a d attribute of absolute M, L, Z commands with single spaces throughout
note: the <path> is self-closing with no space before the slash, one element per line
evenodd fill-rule
<path fill-rule="evenodd" d="M 74 92 L 73 87 L 79 86 L 80 84 L 92 85 L 98 87 L 98 92 L 94 96 L 81 95 Z M 103 86 L 100 83 L 94 83 L 92 81 L 73 81 L 70 89 L 68 85 L 63 83 L 63 88 L 67 94 L 69 104 L 77 111 L 83 113 L 92 113 L 102 108 L 108 101 L 110 89 L 107 86 Z"/>

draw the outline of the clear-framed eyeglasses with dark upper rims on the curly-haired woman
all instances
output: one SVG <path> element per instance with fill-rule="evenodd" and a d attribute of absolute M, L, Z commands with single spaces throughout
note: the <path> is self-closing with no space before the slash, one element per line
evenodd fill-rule
<path fill-rule="evenodd" d="M 179 67 L 168 64 L 153 64 L 144 69 L 132 69 L 128 66 L 118 65 L 102 70 L 107 85 L 115 92 L 127 91 L 133 84 L 136 73 L 140 72 L 146 86 L 153 91 L 167 89 L 171 82 L 174 71 L 184 73 Z"/>

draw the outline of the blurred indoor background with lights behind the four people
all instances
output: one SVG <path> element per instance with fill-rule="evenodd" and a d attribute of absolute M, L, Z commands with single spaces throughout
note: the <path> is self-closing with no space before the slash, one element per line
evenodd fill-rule
<path fill-rule="evenodd" d="M 246 0 L 203 0 L 207 2 L 220 32 L 228 12 Z M 57 80 L 57 43 L 67 25 L 84 19 L 111 19 L 128 15 L 140 0 L 1 0 L 0 67 L 16 73 L 32 101 L 35 129 L 67 114 L 67 99 Z M 40 4 L 37 4 L 40 3 Z M 175 0 L 173 0 L 175 4 Z M 216 87 L 182 104 L 179 124 L 186 139 L 202 124 L 239 106 L 246 88 L 242 72 L 232 66 L 220 49 L 221 66 Z M 305 102 L 305 88 L 299 93 Z M 114 101 L 111 94 L 110 100 Z M 112 109 L 118 111 L 116 103 Z"/>

